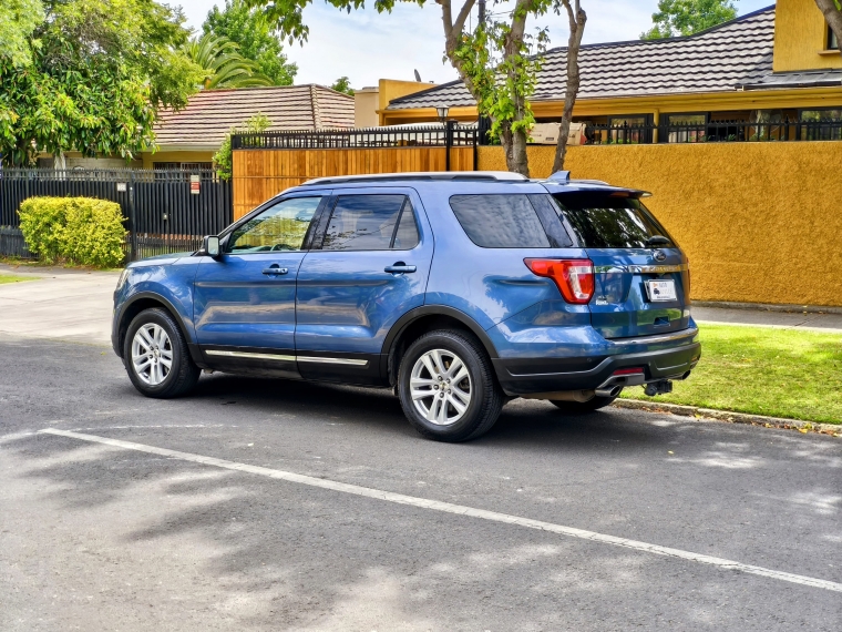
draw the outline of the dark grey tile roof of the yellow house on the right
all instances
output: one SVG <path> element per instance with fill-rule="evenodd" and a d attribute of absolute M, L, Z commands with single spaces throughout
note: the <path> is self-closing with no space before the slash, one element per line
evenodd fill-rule
<path fill-rule="evenodd" d="M 728 92 L 777 88 L 781 82 L 785 86 L 815 85 L 811 82 L 817 80 L 842 82 L 842 70 L 772 73 L 773 49 L 774 7 L 686 38 L 583 45 L 578 99 Z M 566 57 L 566 48 L 547 51 L 532 101 L 564 100 Z M 789 79 L 790 74 L 799 77 Z M 388 110 L 474 103 L 456 80 L 394 99 Z"/>

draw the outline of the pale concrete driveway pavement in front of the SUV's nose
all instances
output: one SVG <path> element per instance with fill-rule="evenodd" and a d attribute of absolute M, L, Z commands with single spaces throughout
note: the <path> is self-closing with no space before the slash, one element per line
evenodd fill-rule
<path fill-rule="evenodd" d="M 33 277 L 0 285 L 0 334 L 111 344 L 119 272 L 0 265 L 0 274 Z"/>

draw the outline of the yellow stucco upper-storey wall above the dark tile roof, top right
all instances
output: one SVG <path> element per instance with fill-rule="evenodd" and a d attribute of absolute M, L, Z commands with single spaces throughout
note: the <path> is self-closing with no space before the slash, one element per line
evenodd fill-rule
<path fill-rule="evenodd" d="M 842 68 L 842 54 L 828 48 L 828 22 L 815 0 L 778 0 L 774 11 L 774 72 Z"/>

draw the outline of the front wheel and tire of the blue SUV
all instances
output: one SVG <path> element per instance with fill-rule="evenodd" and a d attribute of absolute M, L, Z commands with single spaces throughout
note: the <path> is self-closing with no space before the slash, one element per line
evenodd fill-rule
<path fill-rule="evenodd" d="M 134 387 L 157 399 L 184 395 L 196 386 L 202 373 L 178 325 L 160 308 L 145 309 L 132 319 L 123 344 L 123 364 Z"/>

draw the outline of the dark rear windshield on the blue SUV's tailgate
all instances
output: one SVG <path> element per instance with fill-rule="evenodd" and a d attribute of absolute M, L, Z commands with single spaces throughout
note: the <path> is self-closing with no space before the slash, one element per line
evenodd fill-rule
<path fill-rule="evenodd" d="M 584 248 L 648 248 L 655 235 L 672 237 L 639 200 L 613 197 L 605 193 L 562 193 L 554 196 L 567 227 Z"/>

